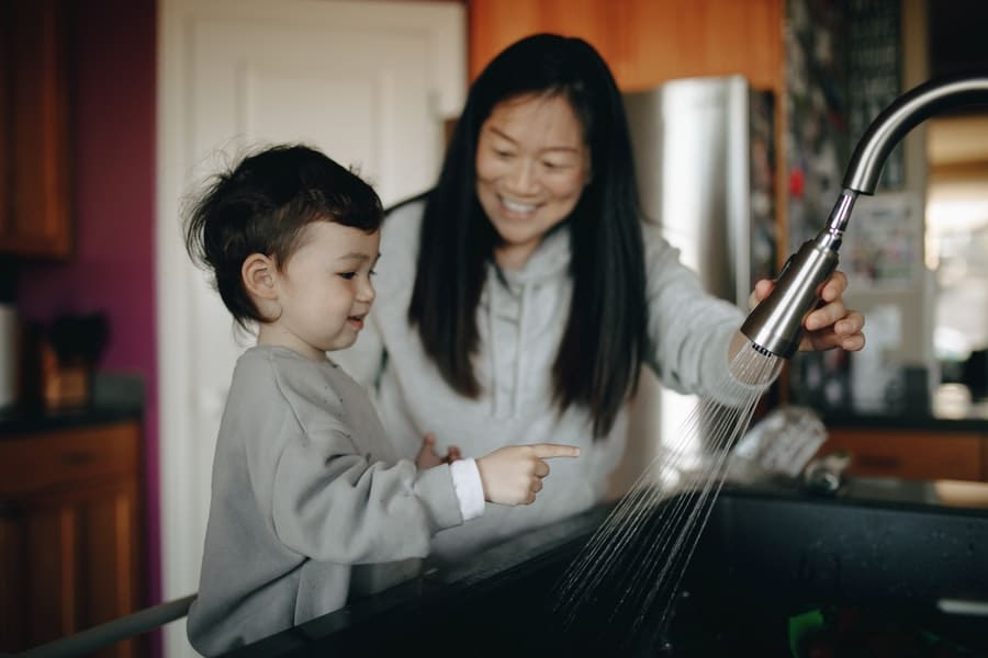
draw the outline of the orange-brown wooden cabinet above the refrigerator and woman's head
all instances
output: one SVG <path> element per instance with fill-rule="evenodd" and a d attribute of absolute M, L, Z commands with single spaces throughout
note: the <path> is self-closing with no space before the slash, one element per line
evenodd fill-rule
<path fill-rule="evenodd" d="M 783 0 L 472 0 L 470 78 L 535 32 L 581 36 L 625 91 L 674 78 L 741 73 L 779 91 Z"/>

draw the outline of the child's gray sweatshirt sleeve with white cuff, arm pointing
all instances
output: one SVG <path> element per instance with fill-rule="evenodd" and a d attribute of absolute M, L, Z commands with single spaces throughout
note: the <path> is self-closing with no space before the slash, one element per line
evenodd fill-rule
<path fill-rule="evenodd" d="M 318 560 L 425 557 L 433 534 L 462 523 L 448 466 L 418 472 L 405 460 L 368 463 L 343 427 L 287 444 L 273 486 L 279 540 Z"/>

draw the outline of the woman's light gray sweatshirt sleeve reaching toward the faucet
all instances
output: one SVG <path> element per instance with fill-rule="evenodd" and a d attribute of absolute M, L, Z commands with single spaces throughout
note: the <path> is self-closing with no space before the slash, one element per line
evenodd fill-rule
<path fill-rule="evenodd" d="M 744 321 L 740 308 L 709 295 L 680 252 L 654 226 L 644 227 L 649 362 L 680 393 L 711 396 L 732 382 L 729 344 Z M 733 400 L 721 400 L 730 402 Z"/>

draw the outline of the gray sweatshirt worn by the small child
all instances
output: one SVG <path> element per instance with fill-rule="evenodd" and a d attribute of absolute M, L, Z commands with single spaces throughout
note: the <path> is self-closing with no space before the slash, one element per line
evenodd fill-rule
<path fill-rule="evenodd" d="M 416 572 L 408 558 L 460 523 L 449 467 L 398 460 L 343 368 L 251 348 L 220 427 L 189 639 L 215 655 L 336 610 Z"/>

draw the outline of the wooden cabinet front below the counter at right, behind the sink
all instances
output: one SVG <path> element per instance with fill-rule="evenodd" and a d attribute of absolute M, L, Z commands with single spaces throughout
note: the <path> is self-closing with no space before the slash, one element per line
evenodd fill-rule
<path fill-rule="evenodd" d="M 851 453 L 850 475 L 988 480 L 988 435 L 907 429 L 830 428 L 820 454 Z"/>

